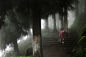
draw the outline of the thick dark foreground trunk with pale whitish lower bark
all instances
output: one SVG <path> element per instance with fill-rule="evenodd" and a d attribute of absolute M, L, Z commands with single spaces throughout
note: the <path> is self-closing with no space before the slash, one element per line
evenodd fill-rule
<path fill-rule="evenodd" d="M 40 10 L 33 10 L 33 57 L 43 57 Z"/>

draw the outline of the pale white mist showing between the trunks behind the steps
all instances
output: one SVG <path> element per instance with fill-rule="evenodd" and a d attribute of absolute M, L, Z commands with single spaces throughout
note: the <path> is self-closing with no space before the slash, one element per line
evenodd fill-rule
<path fill-rule="evenodd" d="M 55 17 L 56 17 L 56 28 L 57 28 L 57 30 L 61 29 L 61 21 L 59 20 L 59 14 L 56 14 Z M 68 28 L 70 28 L 70 26 L 73 24 L 74 20 L 75 20 L 75 10 L 68 11 Z M 58 24 L 58 22 L 59 22 L 59 24 Z M 48 25 L 49 28 L 51 30 L 53 30 L 54 19 L 52 18 L 52 15 L 49 15 L 49 17 L 48 17 L 48 24 L 49 24 Z M 41 20 L 41 29 L 44 29 L 45 26 L 46 26 L 45 20 L 42 19 Z"/>

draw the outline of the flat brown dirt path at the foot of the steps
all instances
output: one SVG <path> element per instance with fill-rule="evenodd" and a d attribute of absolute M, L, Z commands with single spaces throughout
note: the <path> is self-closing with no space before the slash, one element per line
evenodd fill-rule
<path fill-rule="evenodd" d="M 69 48 L 70 49 L 70 48 Z M 51 46 L 51 47 L 46 47 L 43 50 L 43 55 L 44 57 L 68 57 L 68 47 L 56 47 L 56 46 Z"/>

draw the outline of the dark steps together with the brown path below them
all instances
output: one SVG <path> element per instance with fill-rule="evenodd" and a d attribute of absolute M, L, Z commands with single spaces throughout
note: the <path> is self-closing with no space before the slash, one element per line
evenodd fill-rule
<path fill-rule="evenodd" d="M 55 36 L 55 34 L 53 36 Z M 58 39 L 59 38 L 55 37 L 42 39 L 44 57 L 69 57 L 69 52 L 71 52 L 76 45 L 76 39 L 65 38 L 64 46 L 58 42 Z"/>

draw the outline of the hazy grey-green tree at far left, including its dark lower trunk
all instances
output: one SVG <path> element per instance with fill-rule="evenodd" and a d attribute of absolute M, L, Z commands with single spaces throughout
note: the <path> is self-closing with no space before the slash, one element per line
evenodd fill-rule
<path fill-rule="evenodd" d="M 6 48 L 6 46 L 3 46 L 3 45 L 13 43 L 14 51 L 15 53 L 17 53 L 16 55 L 19 55 L 17 39 L 20 38 L 21 34 L 23 35 L 27 34 L 27 32 L 25 32 L 22 29 L 25 27 L 25 24 L 23 26 L 22 25 L 23 23 L 20 24 L 20 22 L 18 22 L 17 16 L 13 12 L 13 10 L 8 11 L 7 15 L 8 16 L 6 16 L 6 19 L 5 19 L 6 26 L 1 29 L 1 36 L 2 36 L 1 38 L 3 38 L 2 43 L 5 43 L 5 44 L 2 44 L 2 49 Z"/>

